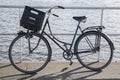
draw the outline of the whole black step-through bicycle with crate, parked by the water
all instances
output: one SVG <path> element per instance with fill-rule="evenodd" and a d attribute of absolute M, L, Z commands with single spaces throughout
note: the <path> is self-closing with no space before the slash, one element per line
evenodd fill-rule
<path fill-rule="evenodd" d="M 92 26 L 82 29 L 80 23 L 85 22 L 87 17 L 74 16 L 73 19 L 78 21 L 78 25 L 72 42 L 63 42 L 53 35 L 50 28 L 49 17 L 51 15 L 59 17 L 52 14 L 53 8 L 65 9 L 62 6 L 55 6 L 45 13 L 29 6 L 25 7 L 20 25 L 26 28 L 27 32 L 18 32 L 17 37 L 10 44 L 9 59 L 11 64 L 17 70 L 27 74 L 41 71 L 50 62 L 52 56 L 51 46 L 46 39 L 48 37 L 63 50 L 63 57 L 70 61 L 70 65 L 72 65 L 72 58 L 75 55 L 79 63 L 90 70 L 98 71 L 107 67 L 112 60 L 115 48 L 112 41 L 102 32 L 105 27 Z M 46 15 L 47 18 L 42 27 Z M 50 34 L 45 32 L 46 27 L 48 27 Z M 80 35 L 78 30 L 81 32 Z M 79 36 L 77 37 L 77 35 Z M 63 45 L 61 46 L 60 43 Z M 34 67 L 31 67 L 32 65 Z"/>

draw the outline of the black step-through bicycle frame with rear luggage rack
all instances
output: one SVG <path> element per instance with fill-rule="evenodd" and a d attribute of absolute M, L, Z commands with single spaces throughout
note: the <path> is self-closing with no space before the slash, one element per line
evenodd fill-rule
<path fill-rule="evenodd" d="M 50 16 L 50 15 L 48 15 L 48 17 L 47 17 L 47 19 L 46 19 L 46 21 L 45 21 L 45 24 L 44 24 L 44 26 L 43 26 L 43 30 L 42 30 L 42 32 L 41 32 L 41 35 L 46 35 L 47 37 L 49 37 L 57 46 L 59 46 L 59 47 L 60 47 L 64 52 L 66 52 L 66 53 L 72 52 L 72 47 L 73 47 L 73 44 L 74 44 L 74 42 L 75 42 L 75 38 L 76 38 L 76 36 L 77 36 L 78 30 L 80 30 L 81 33 L 83 34 L 83 33 L 85 33 L 86 30 L 89 30 L 89 29 L 96 29 L 96 30 L 98 30 L 99 32 L 102 32 L 102 28 L 104 28 L 104 26 L 96 26 L 96 27 L 87 27 L 86 29 L 82 30 L 81 27 L 79 26 L 79 25 L 80 25 L 80 22 L 78 22 L 77 28 L 76 28 L 75 33 L 74 33 L 74 35 L 73 35 L 72 42 L 71 42 L 71 43 L 66 43 L 66 42 L 63 42 L 63 41 L 58 40 L 58 39 L 52 34 L 52 31 L 51 31 L 51 28 L 50 28 L 50 24 L 49 24 L 49 16 Z M 48 29 L 49 29 L 49 31 L 50 31 L 50 34 L 47 34 L 47 33 L 45 32 L 45 28 L 46 28 L 47 25 L 48 25 Z M 82 35 L 82 34 L 81 34 L 81 35 Z M 98 51 L 98 50 L 99 50 L 99 48 L 100 48 L 100 38 L 101 38 L 100 36 L 96 36 L 96 42 L 95 42 L 95 47 L 94 47 L 93 44 L 90 42 L 89 38 L 86 36 L 86 41 L 87 41 L 87 43 L 88 43 L 88 45 L 90 46 L 90 48 L 91 48 L 92 51 L 96 51 L 96 50 Z M 65 49 L 64 49 L 58 42 L 64 44 Z M 68 49 L 66 45 L 70 45 L 70 48 Z M 69 51 L 67 51 L 66 49 L 69 50 Z M 86 51 L 86 52 L 90 52 L 90 51 Z"/>

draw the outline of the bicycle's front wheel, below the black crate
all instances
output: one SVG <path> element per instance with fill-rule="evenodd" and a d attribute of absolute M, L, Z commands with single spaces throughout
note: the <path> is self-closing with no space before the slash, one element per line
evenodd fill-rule
<path fill-rule="evenodd" d="M 26 37 L 27 34 L 18 35 L 9 47 L 11 64 L 17 70 L 27 74 L 42 70 L 50 61 L 52 53 L 48 41 L 43 36 L 35 33 L 30 35 L 29 38 Z"/>

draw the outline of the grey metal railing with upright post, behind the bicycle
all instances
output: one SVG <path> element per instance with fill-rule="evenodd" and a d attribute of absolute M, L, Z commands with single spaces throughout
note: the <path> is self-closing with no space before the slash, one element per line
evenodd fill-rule
<path fill-rule="evenodd" d="M 51 6 L 32 6 L 34 8 L 39 8 L 39 9 L 47 9 L 50 8 Z M 0 5 L 0 8 L 24 8 L 24 6 L 19 6 L 19 5 Z M 65 7 L 66 9 L 83 9 L 83 10 L 100 10 L 101 11 L 101 19 L 100 19 L 100 25 L 103 24 L 103 15 L 105 10 L 120 10 L 120 7 Z M 1 34 L 0 35 L 14 35 L 13 34 Z M 61 35 L 61 34 L 55 34 L 55 35 Z M 67 34 L 63 34 L 67 35 Z M 68 34 L 72 35 L 72 34 Z M 112 34 L 113 36 L 120 36 L 120 34 Z"/>

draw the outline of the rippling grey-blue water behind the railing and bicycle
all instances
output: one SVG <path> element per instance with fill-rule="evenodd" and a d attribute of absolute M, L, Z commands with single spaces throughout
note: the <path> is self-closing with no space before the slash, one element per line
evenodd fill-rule
<path fill-rule="evenodd" d="M 78 6 L 78 7 L 120 7 L 118 0 L 0 0 L 0 5 L 29 5 L 29 6 Z M 0 8 L 0 34 L 17 33 L 20 29 L 19 19 L 23 9 L 16 8 Z M 46 11 L 43 9 L 42 11 Z M 60 17 L 51 17 L 50 23 L 54 33 L 73 34 L 77 22 L 72 19 L 72 16 L 87 16 L 87 22 L 82 24 L 83 28 L 92 25 L 100 25 L 100 10 L 54 10 L 54 13 Z M 103 25 L 106 27 L 106 34 L 120 34 L 120 10 L 105 10 L 103 15 Z M 114 61 L 120 61 L 120 36 L 109 35 L 115 45 Z M 8 48 L 15 36 L 0 35 L 0 61 L 8 61 Z M 71 42 L 72 35 L 58 35 L 57 38 Z M 62 51 L 50 42 L 53 48 L 53 60 L 64 60 Z M 57 51 L 59 50 L 59 51 Z"/>

